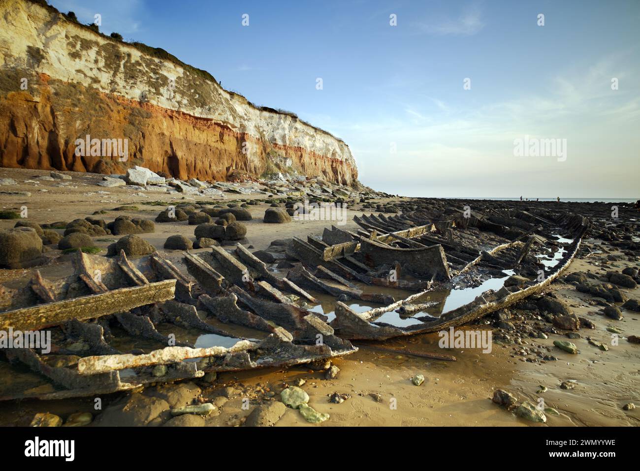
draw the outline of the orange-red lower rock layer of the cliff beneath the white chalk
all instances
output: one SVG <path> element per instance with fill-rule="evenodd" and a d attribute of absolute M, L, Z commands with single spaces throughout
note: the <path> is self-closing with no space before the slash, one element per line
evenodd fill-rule
<path fill-rule="evenodd" d="M 37 97 L 37 98 L 34 98 Z M 76 139 L 121 138 L 128 159 L 76 156 Z M 244 154 L 243 142 L 250 151 Z M 233 170 L 259 177 L 269 157 L 291 159 L 304 175 L 351 185 L 355 166 L 301 147 L 276 145 L 225 124 L 181 111 L 97 92 L 40 74 L 29 92 L 0 96 L 0 166 L 124 173 L 141 165 L 179 179 L 225 180 Z"/>

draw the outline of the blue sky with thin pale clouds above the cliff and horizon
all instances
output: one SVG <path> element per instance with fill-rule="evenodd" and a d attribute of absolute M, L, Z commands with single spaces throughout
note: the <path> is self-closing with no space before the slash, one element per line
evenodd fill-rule
<path fill-rule="evenodd" d="M 50 3 L 342 138 L 380 191 L 640 198 L 639 0 Z"/>

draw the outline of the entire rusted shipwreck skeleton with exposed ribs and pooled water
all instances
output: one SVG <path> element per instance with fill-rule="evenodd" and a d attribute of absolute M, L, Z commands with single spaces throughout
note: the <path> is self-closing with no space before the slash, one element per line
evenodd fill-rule
<path fill-rule="evenodd" d="M 419 200 L 354 220 L 356 232 L 291 239 L 275 254 L 289 269 L 241 244 L 177 260 L 78 251 L 71 276 L 33 271 L 24 286 L 0 287 L 0 330 L 50 330 L 53 341 L 49 353 L 4 350 L 0 367 L 27 379 L 6 382 L 0 399 L 324 362 L 357 351 L 351 340 L 460 326 L 545 290 L 589 227 L 566 212 L 436 211 Z"/>

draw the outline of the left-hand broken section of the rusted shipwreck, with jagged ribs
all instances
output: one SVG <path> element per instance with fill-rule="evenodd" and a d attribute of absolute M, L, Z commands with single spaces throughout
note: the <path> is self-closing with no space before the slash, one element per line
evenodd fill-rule
<path fill-rule="evenodd" d="M 188 254 L 186 258 L 193 263 L 195 257 Z M 227 271 L 246 269 L 240 262 L 235 266 L 224 255 L 221 259 L 227 262 Z M 53 346 L 51 353 L 40 354 L 30 348 L 5 349 L 10 362 L 28 366 L 46 381 L 28 390 L 3 387 L 0 399 L 62 399 L 109 394 L 148 383 L 199 378 L 209 371 L 290 367 L 357 350 L 348 340 L 336 337 L 322 315 L 257 298 L 254 301 L 260 304 L 262 315 L 239 308 L 236 305 L 238 298 L 230 289 L 243 290 L 204 260 L 199 257 L 197 260 L 200 260 L 200 271 L 195 270 L 196 279 L 205 281 L 202 283 L 183 275 L 172 262 L 158 254 L 129 260 L 124 252 L 120 257 L 108 259 L 79 251 L 74 259 L 76 270 L 72 276 L 52 282 L 36 272 L 26 287 L 3 287 L 0 291 L 0 305 L 4 308 L 4 312 L 0 312 L 2 328 L 14 331 L 51 328 Z M 257 259 L 250 260 L 260 268 L 255 263 Z M 266 273 L 265 267 L 262 275 Z M 229 278 L 233 276 L 229 275 Z M 251 284 L 237 277 L 236 283 L 244 287 Z M 289 291 L 302 292 L 292 282 L 283 284 Z M 177 291 L 181 293 L 180 301 L 174 299 Z M 271 289 L 272 294 L 275 291 L 275 288 Z M 208 311 L 220 323 L 230 323 L 230 328 L 234 324 L 244 325 L 266 333 L 261 340 L 243 339 L 205 321 L 198 307 L 200 313 Z M 279 323 L 286 324 L 292 331 L 269 320 L 271 312 L 281 312 L 277 318 Z M 295 319 L 295 323 L 287 322 L 287 319 Z M 158 330 L 163 326 L 162 331 L 168 331 L 167 325 L 176 330 L 189 329 L 192 337 L 196 333 L 214 333 L 220 336 L 220 341 L 233 342 L 233 345 L 196 348 L 189 342 L 175 339 L 172 343 L 170 335 Z M 126 334 L 124 337 L 117 335 L 115 330 L 124 330 Z M 323 341 L 317 342 L 318 338 Z M 152 351 L 132 349 L 127 353 L 113 346 L 125 340 L 136 344 L 139 339 L 145 339 L 148 345 L 157 348 Z M 72 349 L 78 340 L 84 346 L 81 351 Z M 79 358 L 71 365 L 60 366 L 55 361 L 59 354 L 73 354 Z"/>

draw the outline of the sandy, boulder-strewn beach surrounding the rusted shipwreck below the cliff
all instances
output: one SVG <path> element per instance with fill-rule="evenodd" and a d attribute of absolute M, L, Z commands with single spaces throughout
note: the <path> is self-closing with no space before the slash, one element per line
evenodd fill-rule
<path fill-rule="evenodd" d="M 427 333 L 379 345 L 355 342 L 360 351 L 344 358 L 288 369 L 208 372 L 172 382 L 163 378 L 168 374 L 166 367 L 157 365 L 151 372 L 155 382 L 100 395 L 104 401 L 100 410 L 84 399 L 58 400 L 46 408 L 31 399 L 8 401 L 3 403 L 1 424 L 631 425 L 639 419 L 634 365 L 640 359 L 640 239 L 639 213 L 633 204 L 398 198 L 301 175 L 276 173 L 270 179 L 220 183 L 172 179 L 145 168 L 109 176 L 2 169 L 0 183 L 3 290 L 29 280 L 34 283 L 36 270 L 47 280 L 67 276 L 78 250 L 106 258 L 122 251 L 132 260 L 157 253 L 180 266 L 187 250 L 202 253 L 212 246 L 230 249 L 240 243 L 279 273 L 299 263 L 285 250 L 292 238 L 319 235 L 331 225 L 355 234 L 360 229 L 353 216 L 371 213 L 435 217 L 468 209 L 498 231 L 460 230 L 466 244 L 485 244 L 486 250 L 505 235 L 520 237 L 526 232 L 526 225 L 518 228 L 516 220 L 505 219 L 507 212 L 545 220 L 566 211 L 589 220 L 575 259 L 547 290 L 463 328 L 492 332 L 488 355 L 455 345 L 447 347 L 445 355 L 438 347 L 438 333 Z M 58 204 L 52 205 L 53 200 Z M 294 207 L 305 200 L 345 204 L 346 224 L 296 219 Z M 438 222 L 432 235 L 446 241 L 449 230 Z M 457 233 L 454 228 L 451 247 L 457 243 Z M 552 235 L 547 234 L 547 239 L 557 239 L 554 244 L 561 253 L 569 240 Z M 465 254 L 451 247 L 447 248 L 449 269 L 457 276 L 458 257 Z M 492 256 L 486 260 L 501 263 Z M 483 270 L 493 273 L 497 268 Z M 509 280 L 514 286 L 523 282 L 516 276 Z M 478 283 L 484 283 L 484 278 Z M 346 288 L 340 292 L 344 302 L 349 299 L 344 293 L 356 293 Z M 373 287 L 369 292 L 391 291 Z M 328 313 L 330 301 L 320 301 L 316 312 Z M 0 310 L 8 310 L 14 302 L 5 296 Z M 295 302 L 305 308 L 313 305 L 300 299 Z M 403 312 L 411 308 L 408 305 Z M 228 328 L 228 324 L 220 326 Z M 47 362 L 58 368 L 73 368 L 93 348 L 84 340 L 64 340 L 62 333 L 54 340 L 62 348 Z M 193 344 L 197 339 L 185 331 L 179 340 Z M 118 345 L 118 349 L 140 355 L 148 351 L 146 345 L 145 341 Z M 451 354 L 457 361 L 435 359 Z M 38 397 L 58 390 L 42 383 L 38 375 L 14 372 L 6 360 L 0 353 L 0 376 L 6 379 L 0 395 L 19 390 Z"/>

